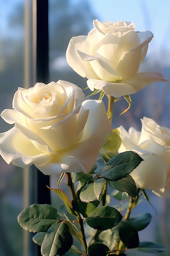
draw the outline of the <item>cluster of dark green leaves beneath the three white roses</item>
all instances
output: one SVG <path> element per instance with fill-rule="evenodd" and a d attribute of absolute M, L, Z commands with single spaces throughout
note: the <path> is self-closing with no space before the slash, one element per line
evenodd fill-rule
<path fill-rule="evenodd" d="M 110 142 L 106 145 L 106 148 L 113 150 Z M 106 151 L 113 154 L 112 151 Z M 122 201 L 131 197 L 133 201 L 131 210 L 137 205 L 140 190 L 138 189 L 137 191 L 135 182 L 129 173 L 141 161 L 142 159 L 139 155 L 132 151 L 127 151 L 108 160 L 101 175 L 95 174 L 96 165 L 88 174 L 83 172 L 72 173 L 69 182 L 79 181 L 80 184 L 77 192 L 75 193 L 74 191 L 72 202 L 66 193 L 59 188 L 64 177 L 64 175 L 61 175 L 58 189 L 51 189 L 51 191 L 54 191 L 64 202 L 67 210 L 66 214 L 63 213 L 65 219 L 61 220 L 57 209 L 50 205 L 33 204 L 20 213 L 18 222 L 24 229 L 38 232 L 33 236 L 33 241 L 41 246 L 43 256 L 62 256 L 65 254 L 68 256 L 81 256 L 83 252 L 81 247 L 77 247 L 77 242 L 80 245 L 84 245 L 85 236 L 87 241 L 91 241 L 87 248 L 88 256 L 109 256 L 110 253 L 117 255 L 114 252 L 117 253 L 116 248 L 120 240 L 122 242 L 121 249 L 127 247 L 127 249 L 134 248 L 141 252 L 163 252 L 165 248 L 160 245 L 149 242 L 139 244 L 138 231 L 146 228 L 150 223 L 151 215 L 149 213 L 121 221 L 122 216 L 118 211 L 119 205 L 117 205 L 116 209 L 108 206 L 110 204 L 110 195 L 107 194 L 106 190 L 107 182 L 115 189 L 112 194 L 117 200 Z M 68 186 L 70 189 L 74 188 L 73 183 L 68 183 Z M 145 191 L 141 190 L 141 193 L 146 196 Z M 106 197 L 107 200 L 103 201 L 102 197 Z M 121 211 L 128 209 L 129 200 L 126 201 L 121 205 Z M 101 206 L 103 203 L 104 206 Z M 67 213 L 72 216 L 68 218 Z M 85 226 L 90 229 L 84 233 L 84 236 L 79 222 L 80 215 L 83 216 L 82 225 L 84 229 Z M 75 217 L 77 220 L 75 220 Z M 86 220 L 86 222 L 83 222 L 83 220 Z M 77 222 L 79 225 L 77 225 Z M 73 237 L 77 241 L 75 244 L 73 244 Z M 126 256 L 124 253 L 119 255 Z"/>

